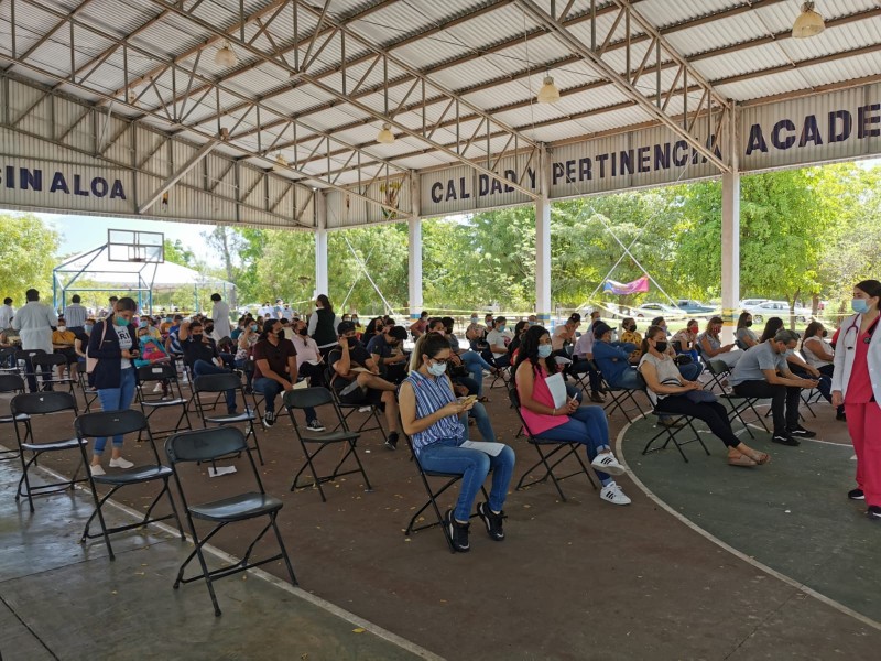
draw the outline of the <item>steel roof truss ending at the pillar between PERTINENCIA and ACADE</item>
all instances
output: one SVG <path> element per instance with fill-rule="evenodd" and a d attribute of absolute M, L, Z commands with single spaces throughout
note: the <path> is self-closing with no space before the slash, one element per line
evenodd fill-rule
<path fill-rule="evenodd" d="M 656 46 L 657 50 L 657 62 L 656 66 L 661 65 L 660 53 L 663 51 L 666 53 L 667 57 L 676 61 L 679 65 L 679 73 L 684 79 L 684 94 L 683 94 L 683 105 L 685 108 L 685 117 L 683 118 L 682 124 L 679 122 L 674 121 L 663 109 L 661 105 L 661 97 L 663 91 L 661 89 L 661 76 L 657 76 L 657 89 L 656 89 L 656 101 L 652 102 L 651 100 L 646 99 L 645 96 L 633 84 L 633 80 L 630 79 L 630 72 L 628 71 L 626 74 L 620 74 L 616 67 L 611 64 L 606 62 L 602 57 L 602 48 L 597 48 L 597 44 L 599 40 L 594 40 L 590 46 L 581 43 L 581 41 L 572 34 L 566 26 L 564 26 L 555 17 L 547 13 L 544 9 L 536 6 L 533 0 L 514 0 L 518 6 L 520 6 L 525 13 L 532 17 L 533 20 L 537 21 L 539 23 L 543 24 L 551 34 L 553 34 L 558 42 L 569 48 L 573 53 L 579 55 L 586 63 L 591 65 L 595 69 L 600 72 L 606 78 L 611 80 L 611 83 L 618 87 L 621 91 L 627 94 L 630 98 L 634 99 L 640 107 L 642 107 L 645 111 L 656 117 L 663 124 L 665 124 L 668 129 L 673 132 L 682 137 L 686 142 L 688 142 L 693 149 L 700 152 L 701 155 L 706 156 L 714 165 L 716 165 L 722 172 L 728 172 L 730 166 L 719 159 L 715 151 L 711 148 L 708 148 L 704 144 L 704 141 L 700 140 L 697 136 L 688 130 L 688 84 L 695 83 L 699 85 L 701 88 L 707 90 L 707 95 L 705 95 L 707 100 L 707 110 L 713 111 L 714 105 L 716 106 L 716 111 L 719 112 L 727 112 L 730 110 L 730 107 L 726 99 L 724 99 L 720 95 L 718 95 L 715 90 L 713 90 L 711 86 L 704 82 L 700 74 L 698 74 L 690 64 L 682 57 L 675 50 L 673 50 L 670 44 L 666 43 L 664 37 L 657 32 L 657 30 L 649 23 L 645 19 L 643 19 L 635 10 L 630 7 L 630 2 L 627 0 L 614 0 L 616 4 L 620 8 L 620 13 L 618 15 L 618 20 L 614 21 L 612 30 L 608 33 L 606 42 L 608 43 L 609 36 L 616 30 L 621 17 L 624 18 L 624 24 L 627 29 L 627 35 L 631 34 L 633 30 L 633 23 L 637 23 L 643 31 L 648 32 L 652 35 L 653 45 Z M 591 0 L 592 1 L 592 0 Z M 596 24 L 596 23 L 595 23 Z M 650 46 L 651 47 L 651 46 Z M 627 51 L 628 55 L 630 54 L 630 46 L 628 46 Z M 629 57 L 628 57 L 629 61 Z M 673 87 L 667 90 L 667 102 L 671 98 L 671 95 L 675 90 L 675 86 L 678 83 L 679 76 L 676 76 L 676 82 L 673 84 Z M 689 80 L 690 78 L 690 80 Z M 693 109 L 695 115 L 699 115 L 701 111 L 700 107 Z"/>

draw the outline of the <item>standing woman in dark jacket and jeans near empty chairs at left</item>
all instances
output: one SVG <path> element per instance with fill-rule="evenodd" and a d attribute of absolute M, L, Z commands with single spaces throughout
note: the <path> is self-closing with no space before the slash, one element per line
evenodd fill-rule
<path fill-rule="evenodd" d="M 134 365 L 132 359 L 140 353 L 137 345 L 138 328 L 131 323 L 138 305 L 128 296 L 119 299 L 110 314 L 95 324 L 89 335 L 89 358 L 98 362 L 91 372 L 102 411 L 124 411 L 134 398 Z M 93 475 L 104 475 L 101 456 L 107 444 L 106 436 L 95 438 L 91 455 Z M 122 435 L 113 436 L 110 453 L 111 468 L 131 468 L 131 462 L 122 458 Z"/>

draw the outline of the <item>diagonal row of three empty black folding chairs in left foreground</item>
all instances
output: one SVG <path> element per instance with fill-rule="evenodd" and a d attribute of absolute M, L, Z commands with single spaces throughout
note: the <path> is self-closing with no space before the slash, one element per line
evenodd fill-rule
<path fill-rule="evenodd" d="M 4 375 L 0 378 L 13 376 Z M 64 425 L 58 422 L 57 416 L 64 413 L 67 413 L 73 419 L 73 431 L 75 432 L 73 435 L 64 434 Z M 55 434 L 51 438 L 46 438 L 51 434 L 45 433 L 42 429 L 39 434 L 34 431 L 36 419 L 47 415 L 54 416 L 51 429 Z M 194 541 L 193 552 L 184 560 L 178 570 L 173 585 L 175 589 L 181 584 L 204 579 L 211 598 L 215 615 L 219 616 L 221 611 L 213 585 L 213 582 L 218 578 L 283 560 L 291 577 L 291 583 L 296 585 L 294 570 L 276 523 L 278 513 L 283 503 L 278 498 L 265 492 L 252 455 L 252 448 L 248 444 L 246 433 L 239 427 L 225 424 L 172 433 L 165 441 L 164 449 L 167 464 L 163 464 L 156 447 L 156 438 L 151 433 L 146 415 L 133 409 L 84 413 L 80 415 L 78 414 L 76 399 L 69 392 L 20 393 L 13 397 L 10 402 L 9 418 L 9 421 L 3 419 L 0 419 L 0 421 L 10 422 L 15 429 L 18 456 L 21 458 L 22 465 L 22 476 L 15 492 L 17 501 L 26 497 L 30 510 L 34 512 L 34 497 L 68 489 L 73 490 L 77 484 L 88 483 L 95 510 L 85 524 L 80 538 L 81 543 L 85 543 L 88 539 L 102 538 L 110 560 L 115 560 L 116 555 L 110 542 L 110 535 L 162 521 L 173 521 L 181 534 L 181 539 L 184 540 L 183 524 L 170 489 L 170 479 L 173 477 L 183 503 L 189 533 Z M 91 474 L 88 468 L 89 460 L 87 455 L 89 441 L 98 436 L 109 438 L 115 435 L 135 433 L 150 447 L 152 456 L 149 463 L 105 475 Z M 80 463 L 73 476 L 45 484 L 35 484 L 32 480 L 32 469 L 39 465 L 41 457 L 51 453 L 72 451 L 78 452 L 80 458 Z M 210 502 L 195 505 L 189 501 L 187 494 L 191 487 L 192 472 L 187 472 L 187 476 L 182 477 L 178 469 L 181 465 L 194 463 L 213 464 L 222 458 L 241 455 L 246 455 L 248 458 L 250 473 L 254 480 L 252 490 L 226 495 L 224 498 Z M 80 474 L 83 475 L 81 477 Z M 131 523 L 108 524 L 105 518 L 105 505 L 108 500 L 122 488 L 153 481 L 159 483 L 161 488 L 152 499 L 142 519 Z M 107 489 L 104 495 L 99 494 L 99 486 Z M 168 511 L 166 513 L 155 513 L 156 506 L 161 502 L 167 503 Z M 265 525 L 249 545 L 243 557 L 235 564 L 209 570 L 204 553 L 205 544 L 227 525 L 252 519 L 265 519 Z M 96 520 L 100 531 L 96 530 Z M 196 527 L 196 521 L 211 524 L 213 528 L 207 534 L 200 534 Z M 270 530 L 274 532 L 279 552 L 270 557 L 253 559 L 254 546 Z M 198 561 L 200 571 L 194 575 L 185 576 L 187 567 L 194 560 Z"/>

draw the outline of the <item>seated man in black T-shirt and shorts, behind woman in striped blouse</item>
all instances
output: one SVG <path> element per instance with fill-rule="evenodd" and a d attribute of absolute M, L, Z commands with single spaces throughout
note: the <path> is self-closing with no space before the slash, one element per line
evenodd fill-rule
<path fill-rule="evenodd" d="M 379 366 L 355 336 L 355 324 L 340 322 L 337 327 L 339 345 L 327 356 L 330 366 L 328 381 L 344 404 L 370 404 L 381 407 L 389 425 L 385 447 L 398 448 L 398 387 L 379 376 Z"/>

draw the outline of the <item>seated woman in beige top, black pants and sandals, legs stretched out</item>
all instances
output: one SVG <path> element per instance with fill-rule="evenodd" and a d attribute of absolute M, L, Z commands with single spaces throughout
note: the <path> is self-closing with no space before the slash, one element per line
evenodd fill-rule
<path fill-rule="evenodd" d="M 686 414 L 707 423 L 710 431 L 728 447 L 731 466 L 758 466 L 771 457 L 757 452 L 735 435 L 728 412 L 716 395 L 703 390 L 697 381 L 686 381 L 667 355 L 667 337 L 663 328 L 651 326 L 642 340 L 640 372 L 649 387 L 649 398 L 655 411 Z"/>

